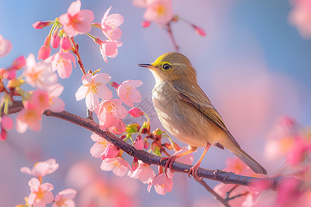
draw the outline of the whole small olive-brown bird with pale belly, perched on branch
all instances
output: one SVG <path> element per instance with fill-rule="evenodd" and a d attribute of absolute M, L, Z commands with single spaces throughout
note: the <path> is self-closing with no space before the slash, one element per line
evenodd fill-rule
<path fill-rule="evenodd" d="M 189 145 L 189 150 L 167 158 L 171 170 L 178 157 L 205 147 L 198 162 L 191 167 L 188 175 L 200 179 L 198 168 L 210 146 L 232 151 L 249 168 L 259 174 L 267 174 L 257 161 L 247 155 L 226 128 L 223 119 L 211 104 L 205 92 L 198 86 L 196 70 L 189 59 L 178 52 L 167 52 L 153 63 L 138 64 L 149 68 L 156 85 L 152 90 L 153 106 L 163 127 L 174 137 Z"/>

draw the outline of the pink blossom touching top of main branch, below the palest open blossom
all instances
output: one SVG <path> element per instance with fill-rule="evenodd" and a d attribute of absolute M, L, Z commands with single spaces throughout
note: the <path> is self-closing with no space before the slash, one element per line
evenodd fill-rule
<path fill-rule="evenodd" d="M 106 130 L 115 124 L 115 119 L 123 119 L 127 115 L 127 110 L 122 106 L 120 99 L 104 100 L 95 110 L 100 120 L 100 128 Z"/>

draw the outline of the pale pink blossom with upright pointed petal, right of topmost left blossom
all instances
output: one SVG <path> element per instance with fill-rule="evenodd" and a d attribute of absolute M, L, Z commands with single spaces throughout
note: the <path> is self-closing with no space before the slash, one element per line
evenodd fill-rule
<path fill-rule="evenodd" d="M 109 11 L 111 10 L 111 7 L 109 7 L 108 10 L 106 10 L 104 17 L 102 17 L 102 32 L 104 35 L 113 40 L 120 39 L 122 36 L 122 32 L 119 28 L 119 26 L 123 23 L 124 18 L 121 14 L 110 14 Z"/>

